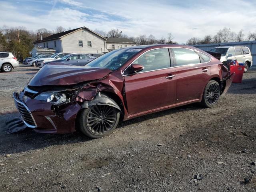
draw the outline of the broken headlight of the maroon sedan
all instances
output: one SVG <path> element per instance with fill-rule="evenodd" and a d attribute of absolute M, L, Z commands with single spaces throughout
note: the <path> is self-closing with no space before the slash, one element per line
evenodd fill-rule
<path fill-rule="evenodd" d="M 57 92 L 44 92 L 36 96 L 34 99 L 44 102 L 51 102 L 51 104 L 55 105 L 61 104 L 67 100 L 66 94 Z"/>

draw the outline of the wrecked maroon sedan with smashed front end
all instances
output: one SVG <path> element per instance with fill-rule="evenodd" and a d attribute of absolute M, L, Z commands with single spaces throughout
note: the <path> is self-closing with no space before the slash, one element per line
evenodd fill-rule
<path fill-rule="evenodd" d="M 185 45 L 150 45 L 108 52 L 88 65 L 48 64 L 13 97 L 36 132 L 110 134 L 119 121 L 201 102 L 216 105 L 233 79 L 210 54 Z"/>

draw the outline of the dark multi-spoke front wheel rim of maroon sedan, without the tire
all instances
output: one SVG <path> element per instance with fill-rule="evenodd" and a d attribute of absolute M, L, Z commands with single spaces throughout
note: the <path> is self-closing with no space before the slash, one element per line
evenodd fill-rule
<path fill-rule="evenodd" d="M 94 105 L 86 117 L 90 132 L 97 135 L 109 132 L 117 120 L 116 109 L 108 105 Z"/>

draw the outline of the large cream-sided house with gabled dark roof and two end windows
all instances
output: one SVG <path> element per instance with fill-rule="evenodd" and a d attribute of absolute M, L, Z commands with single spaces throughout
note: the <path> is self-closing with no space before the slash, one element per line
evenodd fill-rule
<path fill-rule="evenodd" d="M 50 35 L 34 42 L 34 46 L 52 48 L 58 52 L 74 53 L 104 53 L 106 50 L 106 38 L 96 32 L 80 27 Z"/>

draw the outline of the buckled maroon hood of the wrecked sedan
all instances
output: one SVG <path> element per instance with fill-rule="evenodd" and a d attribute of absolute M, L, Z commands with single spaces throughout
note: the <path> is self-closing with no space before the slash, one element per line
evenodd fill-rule
<path fill-rule="evenodd" d="M 107 68 L 47 64 L 34 75 L 34 77 L 28 82 L 28 85 L 72 85 L 78 84 L 80 82 L 86 82 L 103 78 L 110 72 L 112 71 Z"/>

